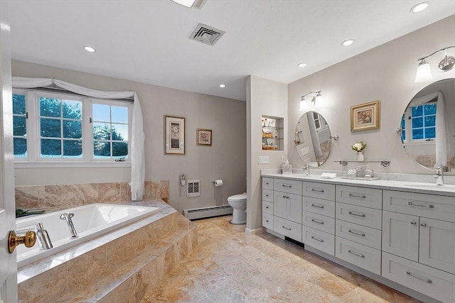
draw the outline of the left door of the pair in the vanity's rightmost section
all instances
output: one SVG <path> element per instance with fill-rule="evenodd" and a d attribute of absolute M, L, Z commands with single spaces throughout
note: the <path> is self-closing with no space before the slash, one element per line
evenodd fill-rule
<path fill-rule="evenodd" d="M 382 250 L 417 262 L 419 217 L 382 211 Z"/>

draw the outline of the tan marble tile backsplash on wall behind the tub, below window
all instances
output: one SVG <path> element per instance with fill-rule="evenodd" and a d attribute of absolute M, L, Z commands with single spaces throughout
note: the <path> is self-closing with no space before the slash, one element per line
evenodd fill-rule
<path fill-rule="evenodd" d="M 143 199 L 161 199 L 168 202 L 169 181 L 146 181 Z M 123 201 L 131 201 L 131 187 L 127 182 L 16 187 L 16 208 L 18 209 L 43 209 Z"/>

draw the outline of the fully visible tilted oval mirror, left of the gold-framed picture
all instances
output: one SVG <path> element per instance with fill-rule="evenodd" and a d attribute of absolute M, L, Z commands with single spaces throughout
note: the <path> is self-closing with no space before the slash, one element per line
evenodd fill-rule
<path fill-rule="evenodd" d="M 326 162 L 332 147 L 326 119 L 316 111 L 307 111 L 296 124 L 294 143 L 302 161 L 312 167 Z"/>

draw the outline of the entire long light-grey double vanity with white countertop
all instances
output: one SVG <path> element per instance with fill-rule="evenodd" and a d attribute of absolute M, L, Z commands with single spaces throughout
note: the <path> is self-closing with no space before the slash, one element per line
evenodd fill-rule
<path fill-rule="evenodd" d="M 262 226 L 424 302 L 455 302 L 455 186 L 262 172 Z"/>

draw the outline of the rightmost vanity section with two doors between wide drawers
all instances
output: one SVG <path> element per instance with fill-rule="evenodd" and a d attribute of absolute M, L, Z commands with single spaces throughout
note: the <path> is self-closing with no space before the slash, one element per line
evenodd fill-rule
<path fill-rule="evenodd" d="M 455 302 L 453 197 L 384 191 L 382 276 Z"/>

